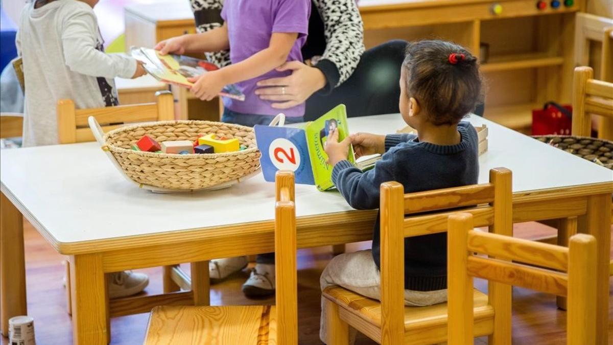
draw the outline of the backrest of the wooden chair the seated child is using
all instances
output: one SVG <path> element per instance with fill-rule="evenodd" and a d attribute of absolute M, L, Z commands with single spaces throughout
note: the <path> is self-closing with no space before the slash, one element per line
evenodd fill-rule
<path fill-rule="evenodd" d="M 405 276 L 405 237 L 447 231 L 447 217 L 457 212 L 450 210 L 458 207 L 466 207 L 463 211 L 474 215 L 477 226 L 512 235 L 511 178 L 510 170 L 495 168 L 487 184 L 409 194 L 398 182 L 381 184 L 381 344 L 404 342 L 405 280 L 400 277 Z M 416 215 L 422 212 L 429 213 Z M 489 293 L 508 298 L 498 308 L 510 312 L 509 287 L 493 285 Z"/>

